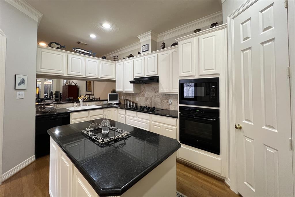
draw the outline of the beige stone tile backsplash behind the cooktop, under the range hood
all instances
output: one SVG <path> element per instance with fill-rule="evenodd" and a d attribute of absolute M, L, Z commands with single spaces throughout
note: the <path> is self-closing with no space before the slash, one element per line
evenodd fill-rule
<path fill-rule="evenodd" d="M 178 110 L 178 95 L 177 94 L 159 94 L 159 84 L 141 84 L 140 93 L 119 93 L 119 97 L 124 97 L 131 101 L 137 102 L 137 105 L 155 106 L 157 108 Z M 136 101 L 138 97 L 138 101 Z M 169 105 L 169 99 L 172 104 Z M 121 100 L 123 103 L 124 100 Z"/>

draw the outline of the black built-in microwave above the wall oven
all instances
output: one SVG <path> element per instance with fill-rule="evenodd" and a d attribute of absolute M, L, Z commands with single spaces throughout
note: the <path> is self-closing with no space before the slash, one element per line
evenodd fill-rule
<path fill-rule="evenodd" d="M 179 80 L 179 104 L 219 107 L 219 77 Z"/>

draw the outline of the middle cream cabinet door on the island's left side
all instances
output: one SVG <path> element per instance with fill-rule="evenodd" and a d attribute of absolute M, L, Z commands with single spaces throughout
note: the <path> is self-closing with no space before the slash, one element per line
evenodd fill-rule
<path fill-rule="evenodd" d="M 71 196 L 73 164 L 60 150 L 58 157 L 58 196 Z"/>

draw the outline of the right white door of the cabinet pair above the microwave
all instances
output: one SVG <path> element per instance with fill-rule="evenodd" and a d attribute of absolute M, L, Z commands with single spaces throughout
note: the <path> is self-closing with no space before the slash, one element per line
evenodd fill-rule
<path fill-rule="evenodd" d="M 211 75 L 219 73 L 219 31 L 199 36 L 199 75 Z"/>

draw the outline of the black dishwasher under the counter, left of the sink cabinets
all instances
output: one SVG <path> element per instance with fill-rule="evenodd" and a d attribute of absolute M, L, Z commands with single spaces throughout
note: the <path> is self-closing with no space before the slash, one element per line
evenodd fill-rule
<path fill-rule="evenodd" d="M 35 157 L 49 154 L 50 136 L 47 130 L 53 127 L 70 124 L 70 113 L 60 115 L 36 116 Z"/>

